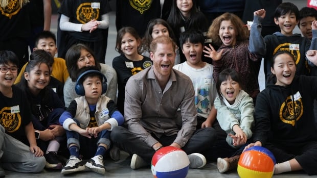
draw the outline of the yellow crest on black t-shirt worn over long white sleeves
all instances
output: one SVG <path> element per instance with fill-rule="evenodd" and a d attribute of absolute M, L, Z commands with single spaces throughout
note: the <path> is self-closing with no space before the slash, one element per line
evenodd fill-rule
<path fill-rule="evenodd" d="M 80 4 L 76 11 L 77 20 L 83 24 L 99 18 L 99 9 L 92 8 L 91 3 Z"/>

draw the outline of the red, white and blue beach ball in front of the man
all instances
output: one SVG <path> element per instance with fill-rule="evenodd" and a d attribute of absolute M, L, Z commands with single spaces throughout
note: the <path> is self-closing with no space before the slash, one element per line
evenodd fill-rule
<path fill-rule="evenodd" d="M 151 171 L 154 178 L 183 178 L 189 169 L 189 159 L 185 151 L 174 146 L 157 150 L 152 157 Z"/>

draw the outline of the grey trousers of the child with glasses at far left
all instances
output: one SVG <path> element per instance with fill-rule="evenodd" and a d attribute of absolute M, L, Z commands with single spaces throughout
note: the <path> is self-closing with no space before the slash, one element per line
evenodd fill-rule
<path fill-rule="evenodd" d="M 35 157 L 28 145 L 6 134 L 0 125 L 0 164 L 10 171 L 40 172 L 46 160 L 44 157 Z"/>

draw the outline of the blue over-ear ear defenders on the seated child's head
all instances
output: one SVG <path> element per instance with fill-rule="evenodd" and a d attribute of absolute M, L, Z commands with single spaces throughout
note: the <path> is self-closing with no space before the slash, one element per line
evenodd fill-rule
<path fill-rule="evenodd" d="M 77 81 L 76 81 L 75 92 L 81 96 L 85 95 L 84 86 L 82 85 L 82 83 L 80 83 L 80 80 L 82 77 L 84 77 L 84 75 L 86 75 L 88 73 L 97 73 L 97 74 L 100 74 L 102 76 L 104 81 L 102 81 L 102 84 L 101 84 L 101 86 L 102 86 L 102 89 L 101 89 L 102 93 L 101 94 L 105 93 L 107 91 L 107 78 L 99 70 L 87 70 L 87 71 L 83 72 L 82 74 L 80 74 L 79 77 L 77 78 Z"/>

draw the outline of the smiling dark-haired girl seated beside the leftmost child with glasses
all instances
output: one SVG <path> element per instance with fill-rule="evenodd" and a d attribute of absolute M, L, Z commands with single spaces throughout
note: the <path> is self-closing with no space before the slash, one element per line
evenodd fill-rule
<path fill-rule="evenodd" d="M 39 49 L 30 58 L 32 60 L 26 66 L 24 78 L 17 86 L 25 91 L 30 103 L 37 144 L 42 150 L 46 150 L 46 168 L 61 169 L 62 162 L 57 157 L 57 152 L 66 137 L 58 119 L 64 112 L 64 104 L 53 89 L 48 87 L 51 71 L 46 62 L 50 60 L 48 58 L 53 60 L 53 57 Z"/>

